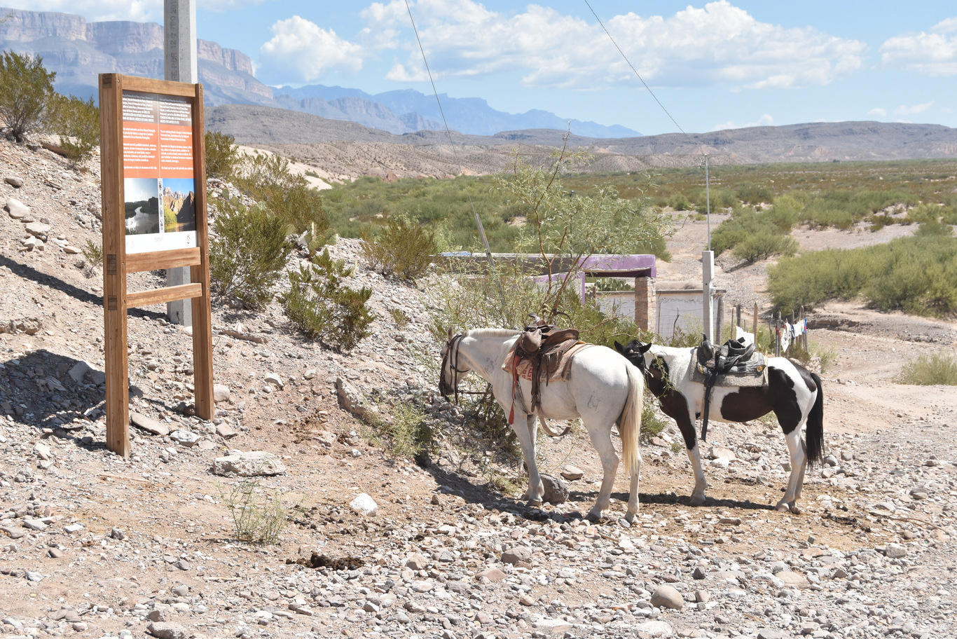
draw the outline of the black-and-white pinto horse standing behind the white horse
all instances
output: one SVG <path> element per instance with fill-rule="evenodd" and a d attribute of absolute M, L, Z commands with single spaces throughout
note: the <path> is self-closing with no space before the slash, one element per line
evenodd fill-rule
<path fill-rule="evenodd" d="M 644 375 L 666 415 L 678 423 L 688 458 L 695 471 L 695 490 L 691 504 L 704 503 L 707 481 L 701 470 L 701 447 L 695 434 L 695 422 L 704 409 L 704 385 L 690 377 L 694 348 L 672 348 L 642 344 L 637 340 L 615 348 Z M 746 422 L 774 411 L 784 431 L 790 452 L 790 478 L 784 497 L 776 510 L 799 512 L 796 506 L 809 464 L 820 462 L 824 448 L 824 393 L 821 378 L 788 358 L 767 359 L 767 386 L 714 386 L 708 419 Z M 807 426 L 805 442 L 801 428 Z"/>

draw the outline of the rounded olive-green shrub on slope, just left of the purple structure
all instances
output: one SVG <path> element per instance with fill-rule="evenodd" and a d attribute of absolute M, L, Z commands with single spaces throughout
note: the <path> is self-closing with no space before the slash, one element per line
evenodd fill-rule
<path fill-rule="evenodd" d="M 406 217 L 389 218 L 376 236 L 363 236 L 363 254 L 372 268 L 383 275 L 416 279 L 425 275 L 438 247 L 435 233 Z"/>

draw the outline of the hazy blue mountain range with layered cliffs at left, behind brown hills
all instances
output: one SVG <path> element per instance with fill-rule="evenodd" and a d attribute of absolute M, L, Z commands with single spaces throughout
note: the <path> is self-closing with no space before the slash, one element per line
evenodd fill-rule
<path fill-rule="evenodd" d="M 40 55 L 56 72 L 56 90 L 79 98 L 98 96 L 100 73 L 163 77 L 163 27 L 155 22 L 87 22 L 81 15 L 0 8 L 0 47 Z M 198 41 L 199 81 L 208 106 L 255 104 L 354 121 L 389 133 L 444 130 L 434 96 L 412 89 L 370 95 L 359 89 L 310 85 L 274 89 L 256 79 L 253 60 L 209 40 Z M 449 126 L 472 135 L 532 128 L 568 130 L 590 138 L 640 135 L 624 126 L 560 118 L 533 109 L 522 114 L 497 111 L 484 99 L 442 95 Z"/>

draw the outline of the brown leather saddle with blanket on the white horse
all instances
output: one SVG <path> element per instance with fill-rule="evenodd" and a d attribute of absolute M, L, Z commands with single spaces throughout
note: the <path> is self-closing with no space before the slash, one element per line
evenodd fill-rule
<path fill-rule="evenodd" d="M 542 382 L 545 381 L 547 386 L 549 382 L 567 380 L 572 356 L 590 345 L 578 341 L 578 329 L 575 328 L 558 328 L 543 320 L 525 326 L 515 347 L 501 365 L 502 370 L 512 375 L 512 410 L 508 415 L 508 423 L 515 421 L 516 398 L 524 403 L 520 378 L 532 384 L 531 402 L 526 412 L 535 413 L 542 408 Z M 561 433 L 552 432 L 544 421 L 542 426 L 552 436 L 568 432 L 568 428 Z"/>

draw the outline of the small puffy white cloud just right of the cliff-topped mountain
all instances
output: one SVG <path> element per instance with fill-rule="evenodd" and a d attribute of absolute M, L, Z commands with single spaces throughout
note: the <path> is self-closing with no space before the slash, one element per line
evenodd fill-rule
<path fill-rule="evenodd" d="M 356 73 L 362 69 L 365 53 L 361 45 L 299 15 L 279 20 L 271 31 L 273 38 L 259 48 L 257 73 L 261 70 L 266 81 L 279 77 L 287 82 L 311 82 L 333 70 Z"/>

